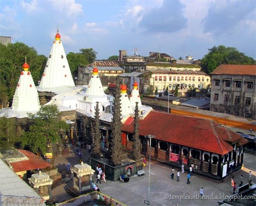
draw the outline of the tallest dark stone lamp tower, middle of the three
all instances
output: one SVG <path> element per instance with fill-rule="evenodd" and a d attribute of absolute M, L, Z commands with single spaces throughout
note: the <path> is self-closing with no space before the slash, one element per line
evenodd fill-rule
<path fill-rule="evenodd" d="M 120 107 L 120 86 L 116 83 L 116 92 L 114 100 L 114 111 L 111 122 L 111 140 L 110 140 L 110 160 L 109 164 L 112 166 L 121 165 L 123 156 L 123 149 L 121 144 L 122 139 L 122 123 L 121 123 L 121 107 Z"/>

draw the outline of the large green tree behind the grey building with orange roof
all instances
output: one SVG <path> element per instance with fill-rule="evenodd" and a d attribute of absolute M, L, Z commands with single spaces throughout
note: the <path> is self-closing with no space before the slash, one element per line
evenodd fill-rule
<path fill-rule="evenodd" d="M 235 47 L 219 45 L 208 50 L 209 53 L 201 61 L 202 70 L 207 74 L 211 74 L 221 64 L 256 64 L 253 58 L 239 52 Z"/>

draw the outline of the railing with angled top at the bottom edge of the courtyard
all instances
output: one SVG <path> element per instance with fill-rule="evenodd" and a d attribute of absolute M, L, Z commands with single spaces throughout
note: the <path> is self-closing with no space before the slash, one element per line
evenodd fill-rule
<path fill-rule="evenodd" d="M 83 194 L 61 203 L 56 203 L 56 206 L 79 206 L 85 202 L 93 202 L 95 200 L 97 200 L 99 203 L 103 203 L 104 205 L 109 206 L 126 206 L 124 203 L 119 202 L 116 199 L 113 199 L 98 191 L 93 191 L 91 193 Z"/>

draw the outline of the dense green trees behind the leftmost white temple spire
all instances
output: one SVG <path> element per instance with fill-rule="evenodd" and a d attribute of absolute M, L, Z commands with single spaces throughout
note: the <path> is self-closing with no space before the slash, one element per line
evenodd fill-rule
<path fill-rule="evenodd" d="M 36 85 L 37 80 L 41 78 L 47 58 L 44 55 L 37 55 L 37 51 L 33 47 L 21 42 L 8 45 L 0 44 L 0 54 L 0 87 L 4 88 L 8 94 L 8 101 L 12 102 L 25 57 Z"/>

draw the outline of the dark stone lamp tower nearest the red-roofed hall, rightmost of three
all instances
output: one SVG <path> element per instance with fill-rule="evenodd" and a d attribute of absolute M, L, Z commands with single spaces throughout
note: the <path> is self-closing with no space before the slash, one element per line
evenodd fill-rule
<path fill-rule="evenodd" d="M 139 138 L 139 106 L 136 102 L 134 114 L 134 129 L 133 129 L 133 145 L 132 145 L 132 159 L 140 160 L 140 138 Z"/>

